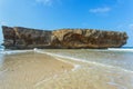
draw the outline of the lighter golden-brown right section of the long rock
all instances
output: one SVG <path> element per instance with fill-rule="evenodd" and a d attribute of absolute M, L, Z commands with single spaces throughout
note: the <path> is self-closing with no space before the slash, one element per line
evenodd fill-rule
<path fill-rule="evenodd" d="M 52 32 L 52 44 L 60 48 L 116 48 L 126 43 L 125 32 L 62 29 Z"/>

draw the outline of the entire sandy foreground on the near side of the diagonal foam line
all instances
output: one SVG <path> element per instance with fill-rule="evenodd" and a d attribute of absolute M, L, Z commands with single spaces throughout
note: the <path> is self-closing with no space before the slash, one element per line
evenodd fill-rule
<path fill-rule="evenodd" d="M 0 89 L 133 89 L 132 72 L 39 52 L 8 55 Z"/>

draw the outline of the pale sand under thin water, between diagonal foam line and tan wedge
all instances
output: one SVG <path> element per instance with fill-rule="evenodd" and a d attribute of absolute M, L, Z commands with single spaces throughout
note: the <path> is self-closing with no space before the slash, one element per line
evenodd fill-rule
<path fill-rule="evenodd" d="M 65 59 L 64 59 L 65 60 Z M 133 89 L 133 73 L 120 69 L 79 62 L 74 71 L 41 83 L 37 89 Z"/>

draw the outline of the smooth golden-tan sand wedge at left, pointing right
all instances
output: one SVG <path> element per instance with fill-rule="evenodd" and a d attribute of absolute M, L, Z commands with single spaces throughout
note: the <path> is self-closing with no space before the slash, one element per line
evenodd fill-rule
<path fill-rule="evenodd" d="M 72 65 L 48 55 L 9 55 L 4 57 L 0 68 L 0 89 L 35 89 L 44 81 L 72 68 Z"/>

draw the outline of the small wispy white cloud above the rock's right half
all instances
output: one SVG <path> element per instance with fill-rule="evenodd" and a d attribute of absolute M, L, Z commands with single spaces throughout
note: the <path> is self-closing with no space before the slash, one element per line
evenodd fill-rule
<path fill-rule="evenodd" d="M 104 12 L 109 12 L 111 8 L 104 7 L 104 8 L 90 9 L 89 11 L 92 13 L 104 13 Z"/>

